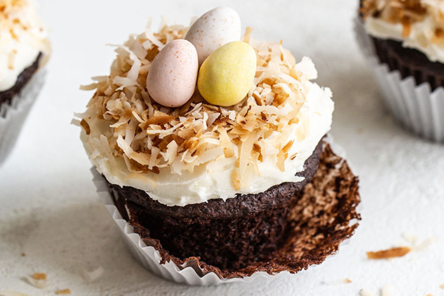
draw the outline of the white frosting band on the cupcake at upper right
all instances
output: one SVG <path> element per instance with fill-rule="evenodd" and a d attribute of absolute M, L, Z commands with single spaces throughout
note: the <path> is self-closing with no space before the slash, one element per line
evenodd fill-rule
<path fill-rule="evenodd" d="M 402 36 L 403 26 L 400 23 L 390 23 L 372 16 L 365 18 L 365 28 L 371 36 L 402 42 L 404 47 L 423 52 L 432 62 L 444 63 L 444 42 L 436 42 L 435 37 L 436 28 L 441 26 L 436 17 L 429 15 L 422 21 L 412 23 L 410 34 Z"/>

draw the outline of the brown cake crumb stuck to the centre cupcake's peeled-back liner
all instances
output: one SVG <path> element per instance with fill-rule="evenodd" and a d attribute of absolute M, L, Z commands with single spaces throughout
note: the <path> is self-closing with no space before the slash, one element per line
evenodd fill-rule
<path fill-rule="evenodd" d="M 191 266 L 199 275 L 215 272 L 221 278 L 251 276 L 254 272 L 276 274 L 282 271 L 296 273 L 337 252 L 339 245 L 351 237 L 361 219 L 356 207 L 360 202 L 358 178 L 347 162 L 324 145 L 319 168 L 302 193 L 289 207 L 287 223 L 290 225 L 285 241 L 273 256 L 249 262 L 239 269 L 218 268 L 198 256 L 173 256 L 161 242 L 150 236 L 150 230 L 131 219 L 135 232 L 153 246 L 161 256 L 160 264 L 173 261 L 181 268 Z M 120 206 L 119 211 L 125 210 Z M 241 252 L 242 250 L 235 250 Z M 198 255 L 198 254 L 196 254 Z M 261 255 L 261 254 L 258 254 Z M 263 254 L 262 254 L 263 255 Z M 230 258 L 228 258 L 230 259 Z"/>

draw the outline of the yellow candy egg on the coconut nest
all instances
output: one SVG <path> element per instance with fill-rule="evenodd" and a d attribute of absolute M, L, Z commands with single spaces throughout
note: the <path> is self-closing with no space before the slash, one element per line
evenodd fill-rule
<path fill-rule="evenodd" d="M 242 41 L 216 49 L 199 70 L 197 86 L 208 103 L 233 106 L 248 94 L 256 74 L 256 52 Z"/>

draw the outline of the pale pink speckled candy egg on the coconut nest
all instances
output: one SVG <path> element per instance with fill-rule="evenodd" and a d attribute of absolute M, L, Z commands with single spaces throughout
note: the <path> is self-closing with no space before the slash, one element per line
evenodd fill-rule
<path fill-rule="evenodd" d="M 194 45 L 185 39 L 173 40 L 151 63 L 147 76 L 148 93 L 165 107 L 182 106 L 196 89 L 198 69 Z"/>

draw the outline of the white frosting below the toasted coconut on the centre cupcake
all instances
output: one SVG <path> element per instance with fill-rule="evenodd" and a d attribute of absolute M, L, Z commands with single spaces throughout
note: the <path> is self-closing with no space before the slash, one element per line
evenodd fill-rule
<path fill-rule="evenodd" d="M 183 173 L 171 174 L 169 168 L 160 169 L 157 176 L 157 184 L 141 178 L 127 178 L 130 172 L 122 158 L 115 158 L 115 164 L 105 158 L 103 153 L 97 152 L 95 147 L 99 146 L 96 141 L 100 141 L 100 134 L 105 134 L 109 130 L 109 122 L 97 119 L 92 116 L 88 120 L 91 134 L 87 137 L 82 131 L 81 138 L 91 162 L 102 173 L 109 182 L 120 186 L 131 186 L 146 191 L 151 198 L 165 205 L 188 205 L 206 202 L 212 198 L 234 197 L 237 193 L 259 193 L 266 191 L 270 187 L 283 182 L 300 182 L 302 177 L 295 177 L 295 174 L 304 170 L 304 162 L 316 148 L 317 143 L 330 130 L 332 123 L 333 101 L 332 93 L 328 88 L 321 88 L 316 83 L 307 82 L 309 88 L 306 102 L 301 108 L 302 120 L 294 123 L 293 133 L 288 133 L 288 140 L 294 140 L 289 155 L 296 154 L 291 160 L 285 161 L 285 171 L 281 172 L 275 162 L 268 158 L 258 164 L 260 176 L 254 175 L 251 178 L 249 188 L 236 191 L 231 182 L 231 174 L 235 166 L 235 158 L 225 158 L 221 149 L 220 157 L 214 161 L 198 166 L 193 174 Z M 305 138 L 298 139 L 296 130 L 304 125 L 306 128 Z M 274 141 L 271 136 L 267 141 Z M 286 142 L 286 141 L 284 141 Z"/>

